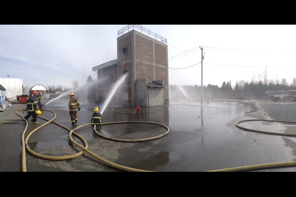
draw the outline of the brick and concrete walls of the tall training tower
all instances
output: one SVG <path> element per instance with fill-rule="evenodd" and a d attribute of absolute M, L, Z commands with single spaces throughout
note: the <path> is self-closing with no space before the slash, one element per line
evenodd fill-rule
<path fill-rule="evenodd" d="M 127 47 L 127 54 L 122 55 L 122 49 Z M 98 94 L 105 97 L 109 94 L 114 83 L 122 76 L 122 71 L 128 70 L 128 76 L 122 83 L 118 95 L 114 95 L 113 103 L 128 106 L 138 104 L 148 107 L 148 91 L 151 94 L 150 106 L 163 105 L 168 98 L 168 58 L 167 45 L 142 34 L 138 31 L 130 32 L 117 38 L 117 64 L 98 70 L 98 80 L 112 74 L 113 80 L 100 83 Z M 167 88 L 151 88 L 148 90 L 147 81 L 162 80 Z M 128 92 L 128 101 L 122 100 L 122 93 Z M 162 97 L 159 101 L 159 98 Z M 144 104 L 145 103 L 145 104 Z"/>

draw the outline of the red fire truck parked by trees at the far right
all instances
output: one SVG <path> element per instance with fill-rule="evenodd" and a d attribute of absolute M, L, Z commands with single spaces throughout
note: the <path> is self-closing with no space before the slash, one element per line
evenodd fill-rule
<path fill-rule="evenodd" d="M 269 90 L 265 92 L 266 99 L 272 101 L 296 101 L 296 90 Z"/>

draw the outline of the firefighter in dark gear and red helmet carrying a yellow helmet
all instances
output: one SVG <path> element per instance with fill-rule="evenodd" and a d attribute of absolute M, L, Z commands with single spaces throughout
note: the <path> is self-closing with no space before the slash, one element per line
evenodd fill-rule
<path fill-rule="evenodd" d="M 41 114 L 41 111 L 39 111 L 39 106 L 38 106 L 38 102 L 36 100 L 35 95 L 37 94 L 36 91 L 33 91 L 32 93 L 30 93 L 29 98 L 27 99 L 27 107 L 26 110 L 28 112 L 28 114 L 23 118 L 23 122 L 26 124 L 27 120 L 32 116 L 32 121 L 34 122 L 34 124 L 39 124 L 39 122 L 37 122 L 37 114 Z"/>

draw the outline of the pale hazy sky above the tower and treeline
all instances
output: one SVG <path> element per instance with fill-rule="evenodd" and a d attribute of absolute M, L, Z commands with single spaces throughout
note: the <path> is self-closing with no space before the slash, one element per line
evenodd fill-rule
<path fill-rule="evenodd" d="M 97 80 L 93 67 L 117 59 L 126 26 L 0 25 L 0 78 L 22 78 L 24 87 L 85 86 L 89 75 Z M 296 25 L 139 26 L 167 39 L 170 85 L 234 87 L 262 80 L 265 70 L 268 80 L 296 78 Z"/>

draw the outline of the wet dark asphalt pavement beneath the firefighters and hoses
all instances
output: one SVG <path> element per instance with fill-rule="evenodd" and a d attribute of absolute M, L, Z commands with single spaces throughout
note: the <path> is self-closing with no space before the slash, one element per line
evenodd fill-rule
<path fill-rule="evenodd" d="M 42 103 L 48 101 L 51 100 L 43 99 Z M 10 114 L 0 119 L 0 171 L 126 171 L 116 167 L 121 165 L 135 171 L 199 172 L 296 161 L 295 137 L 245 131 L 235 126 L 236 122 L 245 119 L 269 119 L 256 107 L 256 102 L 210 101 L 201 105 L 200 102 L 182 100 L 163 106 L 141 107 L 142 114 L 128 113 L 134 108 L 106 108 L 102 112 L 102 123 L 112 124 L 96 126 L 96 129 L 113 140 L 98 135 L 93 125 L 74 131 L 87 142 L 87 150 L 92 155 L 84 152 L 73 159 L 62 160 L 34 155 L 62 158 L 82 151 L 70 140 L 69 130 L 90 123 L 93 108 L 101 106 L 79 100 L 81 110 L 78 112 L 78 124 L 72 126 L 68 102 L 68 99 L 57 99 L 48 103 L 40 115 L 48 120 L 56 115 L 53 121 L 60 125 L 46 124 L 47 121 L 39 117 L 39 124 L 34 125 L 29 121 L 27 129 L 22 118 L 16 114 L 16 111 L 25 109 L 26 104 L 14 104 Z M 18 113 L 24 117 L 27 112 Z M 241 125 L 257 130 L 286 131 L 286 127 L 274 123 L 253 121 Z M 37 127 L 39 129 L 36 130 Z M 294 125 L 290 127 L 295 128 Z M 71 137 L 85 146 L 81 138 L 73 134 Z M 33 154 L 29 151 L 23 153 L 22 143 L 26 139 Z M 249 171 L 296 171 L 296 167 Z"/>

